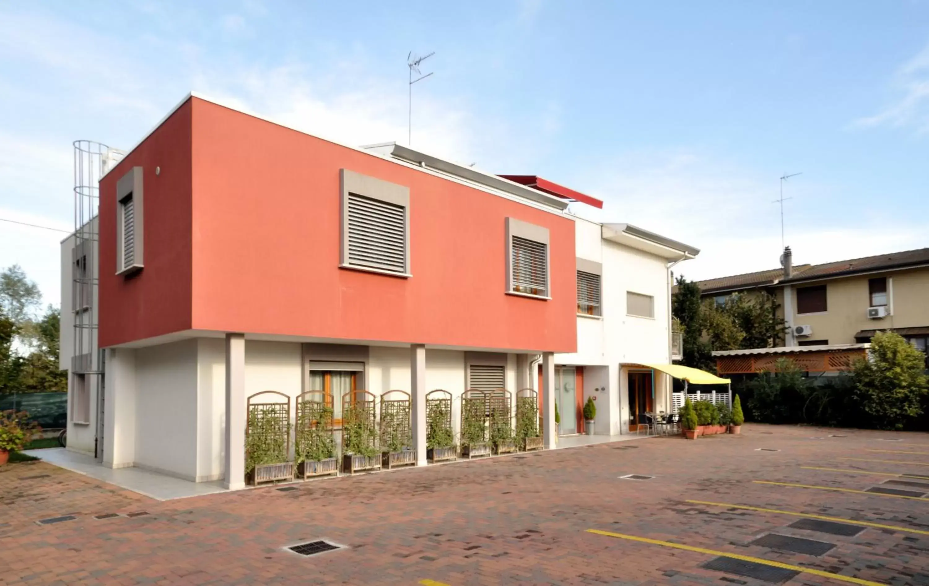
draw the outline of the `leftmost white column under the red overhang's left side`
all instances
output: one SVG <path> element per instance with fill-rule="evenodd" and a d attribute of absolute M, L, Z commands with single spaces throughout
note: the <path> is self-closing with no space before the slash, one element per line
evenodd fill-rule
<path fill-rule="evenodd" d="M 106 364 L 103 465 L 125 468 L 136 461 L 136 351 L 109 348 Z"/>

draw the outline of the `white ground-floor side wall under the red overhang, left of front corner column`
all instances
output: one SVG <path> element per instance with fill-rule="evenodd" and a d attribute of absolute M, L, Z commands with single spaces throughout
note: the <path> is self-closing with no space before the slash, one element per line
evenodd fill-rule
<path fill-rule="evenodd" d="M 197 478 L 197 341 L 136 350 L 136 457 L 148 468 Z"/>

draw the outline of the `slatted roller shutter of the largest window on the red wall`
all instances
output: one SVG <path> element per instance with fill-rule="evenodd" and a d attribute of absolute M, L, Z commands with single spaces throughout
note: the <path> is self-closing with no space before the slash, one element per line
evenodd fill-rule
<path fill-rule="evenodd" d="M 406 273 L 406 208 L 348 194 L 349 265 Z"/>

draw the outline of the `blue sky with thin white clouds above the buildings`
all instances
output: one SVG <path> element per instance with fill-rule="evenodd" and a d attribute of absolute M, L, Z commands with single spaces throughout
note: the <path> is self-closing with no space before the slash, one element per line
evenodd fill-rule
<path fill-rule="evenodd" d="M 929 2 L 0 4 L 0 217 L 72 227 L 72 140 L 190 90 L 350 144 L 536 174 L 702 249 L 710 278 L 929 246 Z M 59 302 L 63 234 L 0 222 Z"/>

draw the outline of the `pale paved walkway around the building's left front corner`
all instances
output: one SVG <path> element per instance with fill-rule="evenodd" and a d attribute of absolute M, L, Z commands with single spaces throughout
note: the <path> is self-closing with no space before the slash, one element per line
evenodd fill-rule
<path fill-rule="evenodd" d="M 132 490 L 157 501 L 170 501 L 215 492 L 226 492 L 226 488 L 223 488 L 222 483 L 219 481 L 190 482 L 190 480 L 158 474 L 142 468 L 117 468 L 114 470 L 98 463 L 93 456 L 87 456 L 64 448 L 27 449 L 22 453 L 41 458 L 45 462 L 55 464 L 66 470 Z"/>

